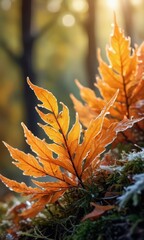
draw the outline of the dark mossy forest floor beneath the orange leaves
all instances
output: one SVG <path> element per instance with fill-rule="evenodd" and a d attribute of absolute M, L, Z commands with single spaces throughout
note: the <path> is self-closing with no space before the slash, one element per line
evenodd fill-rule
<path fill-rule="evenodd" d="M 53 205 L 48 205 L 34 219 L 13 221 L 7 210 L 14 197 L 0 204 L 0 236 L 2 240 L 143 240 L 144 239 L 144 191 L 137 196 L 134 206 L 130 198 L 119 207 L 118 197 L 133 184 L 135 174 L 144 173 L 144 151 L 130 154 L 109 153 L 103 162 L 105 167 L 97 172 L 87 191 L 73 189 Z M 115 159 L 111 164 L 109 159 Z M 107 164 L 106 164 L 107 161 Z M 83 216 L 93 207 L 90 202 L 115 205 L 115 208 L 97 219 L 85 220 Z"/>

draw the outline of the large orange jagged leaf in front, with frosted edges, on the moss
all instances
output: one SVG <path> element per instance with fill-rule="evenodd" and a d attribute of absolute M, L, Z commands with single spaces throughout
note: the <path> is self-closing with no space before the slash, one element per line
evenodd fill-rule
<path fill-rule="evenodd" d="M 87 129 L 82 128 L 77 114 L 75 123 L 70 129 L 67 106 L 62 104 L 62 111 L 59 112 L 57 100 L 52 93 L 35 86 L 29 80 L 28 84 L 41 101 L 38 106 L 48 111 L 43 113 L 37 108 L 38 114 L 45 122 L 40 124 L 40 127 L 52 143 L 34 136 L 22 123 L 26 142 L 36 157 L 14 149 L 6 143 L 5 145 L 15 159 L 13 163 L 24 174 L 35 178 L 51 176 L 55 180 L 39 182 L 32 179 L 36 185 L 33 188 L 23 182 L 18 183 L 0 175 L 0 179 L 11 190 L 29 197 L 31 205 L 21 213 L 24 218 L 34 217 L 47 203 L 54 203 L 70 188 L 86 188 L 89 178 L 87 173 L 91 169 L 96 172 L 100 154 L 116 138 L 119 131 L 131 127 L 136 121 L 125 119 L 120 123 L 111 124 L 108 119 L 106 120 L 106 115 L 117 98 L 118 91 L 116 91 Z M 107 127 L 103 128 L 105 121 L 107 121 Z"/>

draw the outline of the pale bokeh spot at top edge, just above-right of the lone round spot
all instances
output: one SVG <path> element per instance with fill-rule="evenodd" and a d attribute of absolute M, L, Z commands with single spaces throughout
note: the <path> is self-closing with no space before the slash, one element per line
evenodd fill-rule
<path fill-rule="evenodd" d="M 88 4 L 85 0 L 73 0 L 71 6 L 76 12 L 86 12 L 88 10 Z"/>

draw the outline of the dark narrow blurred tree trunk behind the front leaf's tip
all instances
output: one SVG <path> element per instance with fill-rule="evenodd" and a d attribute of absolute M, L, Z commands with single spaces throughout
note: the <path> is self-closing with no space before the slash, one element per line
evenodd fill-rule
<path fill-rule="evenodd" d="M 21 69 L 23 74 L 23 86 L 24 86 L 24 99 L 26 108 L 26 121 L 28 128 L 37 134 L 38 126 L 37 119 L 38 115 L 35 111 L 36 97 L 33 91 L 29 88 L 26 78 L 36 83 L 36 74 L 33 68 L 32 57 L 33 57 L 33 38 L 31 32 L 31 20 L 32 20 L 32 0 L 22 0 L 22 46 L 23 54 L 21 58 Z"/>

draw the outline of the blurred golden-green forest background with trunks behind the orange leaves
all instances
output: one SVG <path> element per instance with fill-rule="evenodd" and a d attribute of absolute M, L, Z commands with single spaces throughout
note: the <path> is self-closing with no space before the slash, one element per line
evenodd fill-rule
<path fill-rule="evenodd" d="M 39 137 L 37 103 L 26 77 L 52 91 L 74 116 L 74 79 L 93 88 L 96 51 L 112 32 L 113 11 L 131 44 L 144 39 L 144 0 L 0 0 L 0 172 L 23 180 L 2 141 L 25 148 L 21 122 Z M 0 195 L 3 185 L 0 184 Z"/>

